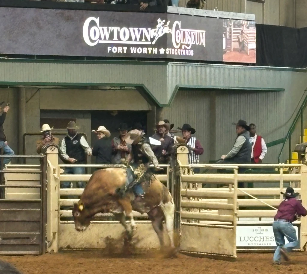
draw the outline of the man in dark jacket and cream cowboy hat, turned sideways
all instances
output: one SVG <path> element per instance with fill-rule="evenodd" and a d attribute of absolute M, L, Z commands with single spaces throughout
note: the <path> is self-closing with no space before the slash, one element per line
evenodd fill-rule
<path fill-rule="evenodd" d="M 98 140 L 92 148 L 93 156 L 96 156 L 96 164 L 109 165 L 111 164 L 112 147 L 109 137 L 111 133 L 105 126 L 99 126 L 97 130 L 92 130 L 97 134 Z"/>

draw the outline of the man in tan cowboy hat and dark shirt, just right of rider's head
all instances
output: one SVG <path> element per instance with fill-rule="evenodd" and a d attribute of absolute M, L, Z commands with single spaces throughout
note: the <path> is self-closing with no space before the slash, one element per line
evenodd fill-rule
<path fill-rule="evenodd" d="M 159 164 L 169 164 L 174 140 L 166 133 L 170 129 L 170 124 L 160 121 L 157 124 L 157 133 L 152 138 L 161 142 L 161 145 L 153 145 L 152 151 L 157 157 Z"/>

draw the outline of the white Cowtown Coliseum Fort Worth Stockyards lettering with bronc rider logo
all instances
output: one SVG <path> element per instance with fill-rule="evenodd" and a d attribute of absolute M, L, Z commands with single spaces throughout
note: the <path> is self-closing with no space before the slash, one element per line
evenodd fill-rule
<path fill-rule="evenodd" d="M 94 22 L 93 26 L 90 26 Z M 173 26 L 169 27 L 170 21 L 165 24 L 165 20 L 157 20 L 156 28 L 142 27 L 111 27 L 100 26 L 99 17 L 89 17 L 83 25 L 83 39 L 89 46 L 96 46 L 98 43 L 112 44 L 121 46 L 108 46 L 107 51 L 113 53 L 131 54 L 175 54 L 175 55 L 194 55 L 191 50 L 192 45 L 206 47 L 205 30 L 181 28 L 181 21 L 174 21 Z M 171 34 L 173 48 L 158 49 L 155 47 L 157 40 L 167 34 Z M 130 45 L 127 47 L 125 45 Z M 138 45 L 138 47 L 135 47 Z M 144 47 L 145 46 L 145 47 Z"/>

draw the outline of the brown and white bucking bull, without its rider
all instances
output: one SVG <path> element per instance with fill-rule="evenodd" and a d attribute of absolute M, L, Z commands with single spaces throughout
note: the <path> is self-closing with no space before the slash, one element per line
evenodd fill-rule
<path fill-rule="evenodd" d="M 162 225 L 165 220 L 170 247 L 175 248 L 173 239 L 174 202 L 169 190 L 159 180 L 152 177 L 150 186 L 144 189 L 146 194 L 141 201 L 137 201 L 133 193 L 126 193 L 121 198 L 115 194 L 115 190 L 123 186 L 125 181 L 125 169 L 106 168 L 95 171 L 87 182 L 79 202 L 74 204 L 72 210 L 76 230 L 85 231 L 95 214 L 111 212 L 125 227 L 128 236 L 132 237 L 135 229 L 135 221 L 132 216 L 132 210 L 134 210 L 148 214 L 160 240 L 161 248 L 165 247 Z M 142 184 L 146 188 L 146 183 Z M 126 217 L 130 223 L 126 223 Z"/>

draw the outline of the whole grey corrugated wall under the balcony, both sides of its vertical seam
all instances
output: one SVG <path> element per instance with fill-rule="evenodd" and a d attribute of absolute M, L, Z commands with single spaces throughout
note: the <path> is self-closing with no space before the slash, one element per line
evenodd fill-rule
<path fill-rule="evenodd" d="M 232 123 L 239 119 L 255 123 L 266 142 L 284 136 L 283 112 L 283 92 L 180 90 L 173 104 L 163 108 L 162 117 L 175 128 L 183 123 L 195 127 L 195 137 L 204 147 L 200 161 L 208 162 L 230 151 L 236 138 Z M 279 151 L 280 146 L 270 148 L 264 162 L 276 163 Z"/>

